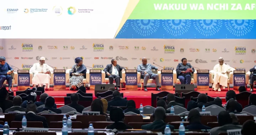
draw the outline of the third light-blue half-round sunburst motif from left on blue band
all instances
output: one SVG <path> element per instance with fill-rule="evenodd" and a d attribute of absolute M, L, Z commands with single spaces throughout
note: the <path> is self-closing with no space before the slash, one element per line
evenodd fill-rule
<path fill-rule="evenodd" d="M 222 20 L 195 20 L 194 27 L 203 36 L 213 36 L 222 27 Z"/>

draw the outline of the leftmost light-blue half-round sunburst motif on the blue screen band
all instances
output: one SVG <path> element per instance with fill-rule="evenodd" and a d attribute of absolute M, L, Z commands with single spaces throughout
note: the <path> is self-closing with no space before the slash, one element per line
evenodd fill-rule
<path fill-rule="evenodd" d="M 133 30 L 143 37 L 155 33 L 159 25 L 159 20 L 131 20 Z"/>

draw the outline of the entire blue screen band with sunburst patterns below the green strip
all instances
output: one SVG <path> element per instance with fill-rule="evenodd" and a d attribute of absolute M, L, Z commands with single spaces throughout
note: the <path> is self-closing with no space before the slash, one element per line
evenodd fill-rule
<path fill-rule="evenodd" d="M 256 39 L 256 20 L 127 20 L 116 38 Z"/>

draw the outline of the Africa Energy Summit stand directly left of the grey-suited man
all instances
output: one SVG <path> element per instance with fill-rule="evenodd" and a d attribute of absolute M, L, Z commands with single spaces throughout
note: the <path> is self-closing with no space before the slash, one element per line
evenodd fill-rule
<path fill-rule="evenodd" d="M 138 82 L 137 82 L 137 69 L 127 69 L 126 72 L 126 90 L 128 91 L 137 91 Z"/>

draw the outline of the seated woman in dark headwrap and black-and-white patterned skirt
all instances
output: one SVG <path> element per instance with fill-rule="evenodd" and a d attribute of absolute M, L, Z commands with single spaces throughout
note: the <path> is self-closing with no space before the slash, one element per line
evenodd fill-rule
<path fill-rule="evenodd" d="M 70 71 L 71 79 L 69 81 L 69 89 L 77 90 L 83 84 L 83 79 L 86 78 L 86 67 L 82 64 L 82 58 L 75 58 L 75 65 Z"/>

